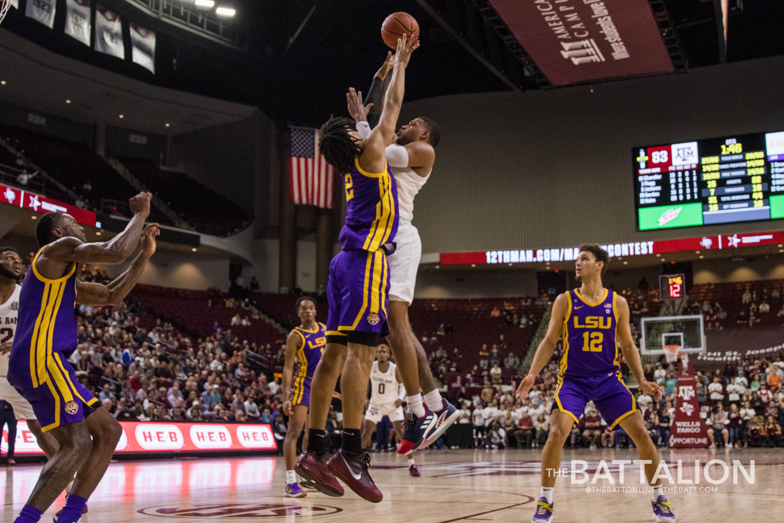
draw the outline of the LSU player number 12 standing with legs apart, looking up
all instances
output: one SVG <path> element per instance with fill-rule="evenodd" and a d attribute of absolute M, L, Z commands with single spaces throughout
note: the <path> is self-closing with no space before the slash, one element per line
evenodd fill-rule
<path fill-rule="evenodd" d="M 675 515 L 662 492 L 661 479 L 653 479 L 659 467 L 659 452 L 648 436 L 632 393 L 623 383 L 621 357 L 626 359 L 641 391 L 659 401 L 662 387 L 645 380 L 629 325 L 629 304 L 623 296 L 604 289 L 601 283 L 601 274 L 609 262 L 608 253 L 596 244 L 580 245 L 579 249 L 575 274 L 582 285 L 555 299 L 546 336 L 536 349 L 531 369 L 517 388 L 520 398 L 528 395 L 563 336 L 564 355 L 550 412 L 550 434 L 542 452 L 542 492 L 531 521 L 553 520 L 553 489 L 564 442 L 583 415 L 587 402 L 593 401 L 608 425 L 619 425 L 625 430 L 637 445 L 640 459 L 648 460 L 645 476 L 652 488 L 656 523 L 674 523 Z"/>

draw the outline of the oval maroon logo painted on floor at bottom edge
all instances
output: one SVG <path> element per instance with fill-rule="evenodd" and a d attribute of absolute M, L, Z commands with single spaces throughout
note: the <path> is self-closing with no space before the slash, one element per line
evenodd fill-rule
<path fill-rule="evenodd" d="M 215 519 L 256 519 L 256 518 L 312 518 L 342 512 L 339 507 L 314 505 L 312 503 L 184 503 L 147 507 L 136 510 L 139 514 L 163 518 L 215 518 Z"/>

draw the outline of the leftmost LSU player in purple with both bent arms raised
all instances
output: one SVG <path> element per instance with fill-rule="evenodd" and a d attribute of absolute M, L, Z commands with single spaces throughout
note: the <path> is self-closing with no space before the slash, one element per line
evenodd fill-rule
<path fill-rule="evenodd" d="M 106 472 L 122 434 L 120 424 L 74 375 L 67 358 L 76 348 L 75 305 L 121 303 L 155 252 L 158 224 L 146 228 L 152 194 L 131 198 L 134 213 L 125 231 L 108 242 L 85 243 L 85 231 L 68 214 L 51 212 L 38 220 L 38 253 L 20 293 L 17 334 L 9 358 L 8 381 L 30 402 L 42 430 L 60 448 L 49 459 L 27 504 L 14 523 L 36 523 L 74 478 L 57 523 L 74 523 Z M 140 241 L 141 240 L 141 241 Z M 109 285 L 79 281 L 80 263 L 122 263 L 141 246 L 130 267 Z"/>

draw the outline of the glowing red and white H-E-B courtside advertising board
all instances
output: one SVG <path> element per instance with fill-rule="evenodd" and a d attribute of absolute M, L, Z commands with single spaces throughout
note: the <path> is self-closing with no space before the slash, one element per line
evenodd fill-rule
<path fill-rule="evenodd" d="M 249 423 L 180 423 L 121 421 L 122 437 L 114 452 L 198 452 L 276 450 L 272 427 Z M 8 452 L 8 433 L 2 431 L 2 452 Z M 43 454 L 27 422 L 16 426 L 20 455 Z"/>

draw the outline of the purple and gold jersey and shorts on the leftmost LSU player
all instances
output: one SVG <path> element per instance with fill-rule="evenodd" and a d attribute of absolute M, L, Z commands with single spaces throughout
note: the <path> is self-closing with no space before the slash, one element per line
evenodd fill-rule
<path fill-rule="evenodd" d="M 44 278 L 33 259 L 22 283 L 8 381 L 33 407 L 42 430 L 84 419 L 98 400 L 67 358 L 77 345 L 76 265 L 62 278 Z"/>

